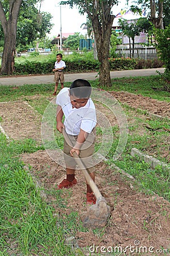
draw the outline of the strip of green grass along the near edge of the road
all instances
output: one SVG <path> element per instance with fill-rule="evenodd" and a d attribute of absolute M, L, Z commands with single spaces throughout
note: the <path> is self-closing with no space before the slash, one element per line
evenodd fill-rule
<path fill-rule="evenodd" d="M 91 85 L 98 87 L 97 81 L 90 81 Z M 65 87 L 70 86 L 70 82 L 65 82 Z M 142 96 L 147 96 L 155 98 L 159 101 L 170 102 L 169 92 L 165 92 L 163 89 L 165 86 L 169 86 L 167 82 L 160 79 L 159 76 L 148 76 L 148 77 L 133 77 L 133 78 L 119 78 L 112 79 L 112 87 L 104 88 L 105 90 L 111 91 L 121 91 L 141 94 Z M 151 87 L 158 88 L 158 90 L 153 90 Z M 0 86 L 1 102 L 3 101 L 14 101 L 19 98 L 24 98 L 25 96 L 32 95 L 42 95 L 51 96 L 54 89 L 54 84 L 40 84 L 40 85 L 23 85 L 14 89 L 14 86 Z M 59 87 L 58 87 L 59 89 Z"/>

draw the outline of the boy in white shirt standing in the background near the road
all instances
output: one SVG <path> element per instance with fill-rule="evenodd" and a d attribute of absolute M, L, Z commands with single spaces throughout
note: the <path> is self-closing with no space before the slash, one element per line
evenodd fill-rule
<path fill-rule="evenodd" d="M 53 72 L 55 72 L 54 73 L 54 82 L 56 82 L 56 85 L 54 88 L 53 96 L 56 96 L 56 94 L 57 94 L 59 80 L 61 82 L 61 89 L 63 89 L 63 82 L 65 81 L 64 74 L 63 74 L 63 69 L 66 67 L 65 61 L 62 60 L 61 53 L 58 53 L 56 55 L 56 57 L 57 57 L 57 61 L 55 62 L 54 69 L 53 69 Z"/>

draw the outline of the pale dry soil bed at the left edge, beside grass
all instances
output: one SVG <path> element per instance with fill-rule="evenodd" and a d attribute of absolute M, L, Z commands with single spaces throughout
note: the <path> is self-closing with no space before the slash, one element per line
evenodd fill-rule
<path fill-rule="evenodd" d="M 1 102 L 0 113 L 1 125 L 9 137 L 41 141 L 41 115 L 27 102 Z"/>

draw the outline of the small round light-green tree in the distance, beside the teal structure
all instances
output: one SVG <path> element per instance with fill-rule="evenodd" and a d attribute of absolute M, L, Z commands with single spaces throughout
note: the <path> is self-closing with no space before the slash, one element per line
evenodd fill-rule
<path fill-rule="evenodd" d="M 76 50 L 79 48 L 80 39 L 85 39 L 85 37 L 79 32 L 76 32 L 74 35 L 69 35 L 69 37 L 63 42 L 63 47 Z"/>

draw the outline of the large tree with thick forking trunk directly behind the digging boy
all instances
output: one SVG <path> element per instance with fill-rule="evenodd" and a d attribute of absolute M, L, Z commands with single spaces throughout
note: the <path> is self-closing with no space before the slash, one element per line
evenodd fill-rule
<path fill-rule="evenodd" d="M 96 40 L 97 56 L 100 62 L 99 82 L 101 86 L 111 86 L 109 71 L 109 46 L 114 15 L 111 12 L 118 0 L 69 0 L 62 5 L 78 6 L 80 13 L 86 13 L 91 20 Z"/>

